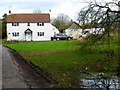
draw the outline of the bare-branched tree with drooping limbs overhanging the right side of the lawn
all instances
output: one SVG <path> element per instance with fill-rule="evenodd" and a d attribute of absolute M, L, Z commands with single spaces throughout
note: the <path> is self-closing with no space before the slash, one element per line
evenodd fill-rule
<path fill-rule="evenodd" d="M 113 7 L 115 7 L 113 9 Z M 108 48 L 106 51 L 107 60 L 111 60 L 111 55 L 114 54 L 114 51 L 110 51 L 111 42 L 115 41 L 118 43 L 118 52 L 116 53 L 116 61 L 118 64 L 117 72 L 120 76 L 120 1 L 114 0 L 112 2 L 99 3 L 94 0 L 93 3 L 90 3 L 87 8 L 83 8 L 78 13 L 77 20 L 82 24 L 89 23 L 94 26 L 95 24 L 99 25 L 99 28 L 105 28 L 105 31 L 101 35 L 91 34 L 88 36 L 82 44 L 82 48 L 88 47 L 90 45 L 95 46 L 99 44 L 107 43 Z M 100 31 L 99 30 L 99 31 Z M 117 34 L 114 34 L 117 33 Z M 114 35 L 114 37 L 111 35 Z M 116 38 L 116 35 L 118 38 Z M 115 38 L 115 39 L 113 39 Z M 97 44 L 96 44 L 97 43 Z"/>

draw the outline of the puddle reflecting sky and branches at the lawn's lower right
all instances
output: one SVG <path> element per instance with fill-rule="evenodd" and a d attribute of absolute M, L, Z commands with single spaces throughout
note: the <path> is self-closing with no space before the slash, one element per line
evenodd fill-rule
<path fill-rule="evenodd" d="M 113 73 L 84 73 L 80 75 L 80 88 L 119 90 L 120 77 Z"/>

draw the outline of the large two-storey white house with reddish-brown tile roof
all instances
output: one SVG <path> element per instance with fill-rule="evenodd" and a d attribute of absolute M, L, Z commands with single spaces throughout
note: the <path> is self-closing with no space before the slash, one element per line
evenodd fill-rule
<path fill-rule="evenodd" d="M 11 14 L 7 19 L 7 41 L 47 41 L 54 33 L 59 33 L 50 24 L 50 15 Z"/>

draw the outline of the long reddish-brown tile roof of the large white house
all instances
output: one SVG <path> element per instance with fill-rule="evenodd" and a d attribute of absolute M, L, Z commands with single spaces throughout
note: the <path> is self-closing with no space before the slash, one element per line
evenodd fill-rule
<path fill-rule="evenodd" d="M 18 23 L 36 23 L 36 22 L 50 22 L 50 14 L 11 14 L 9 15 L 7 22 L 18 22 Z"/>

